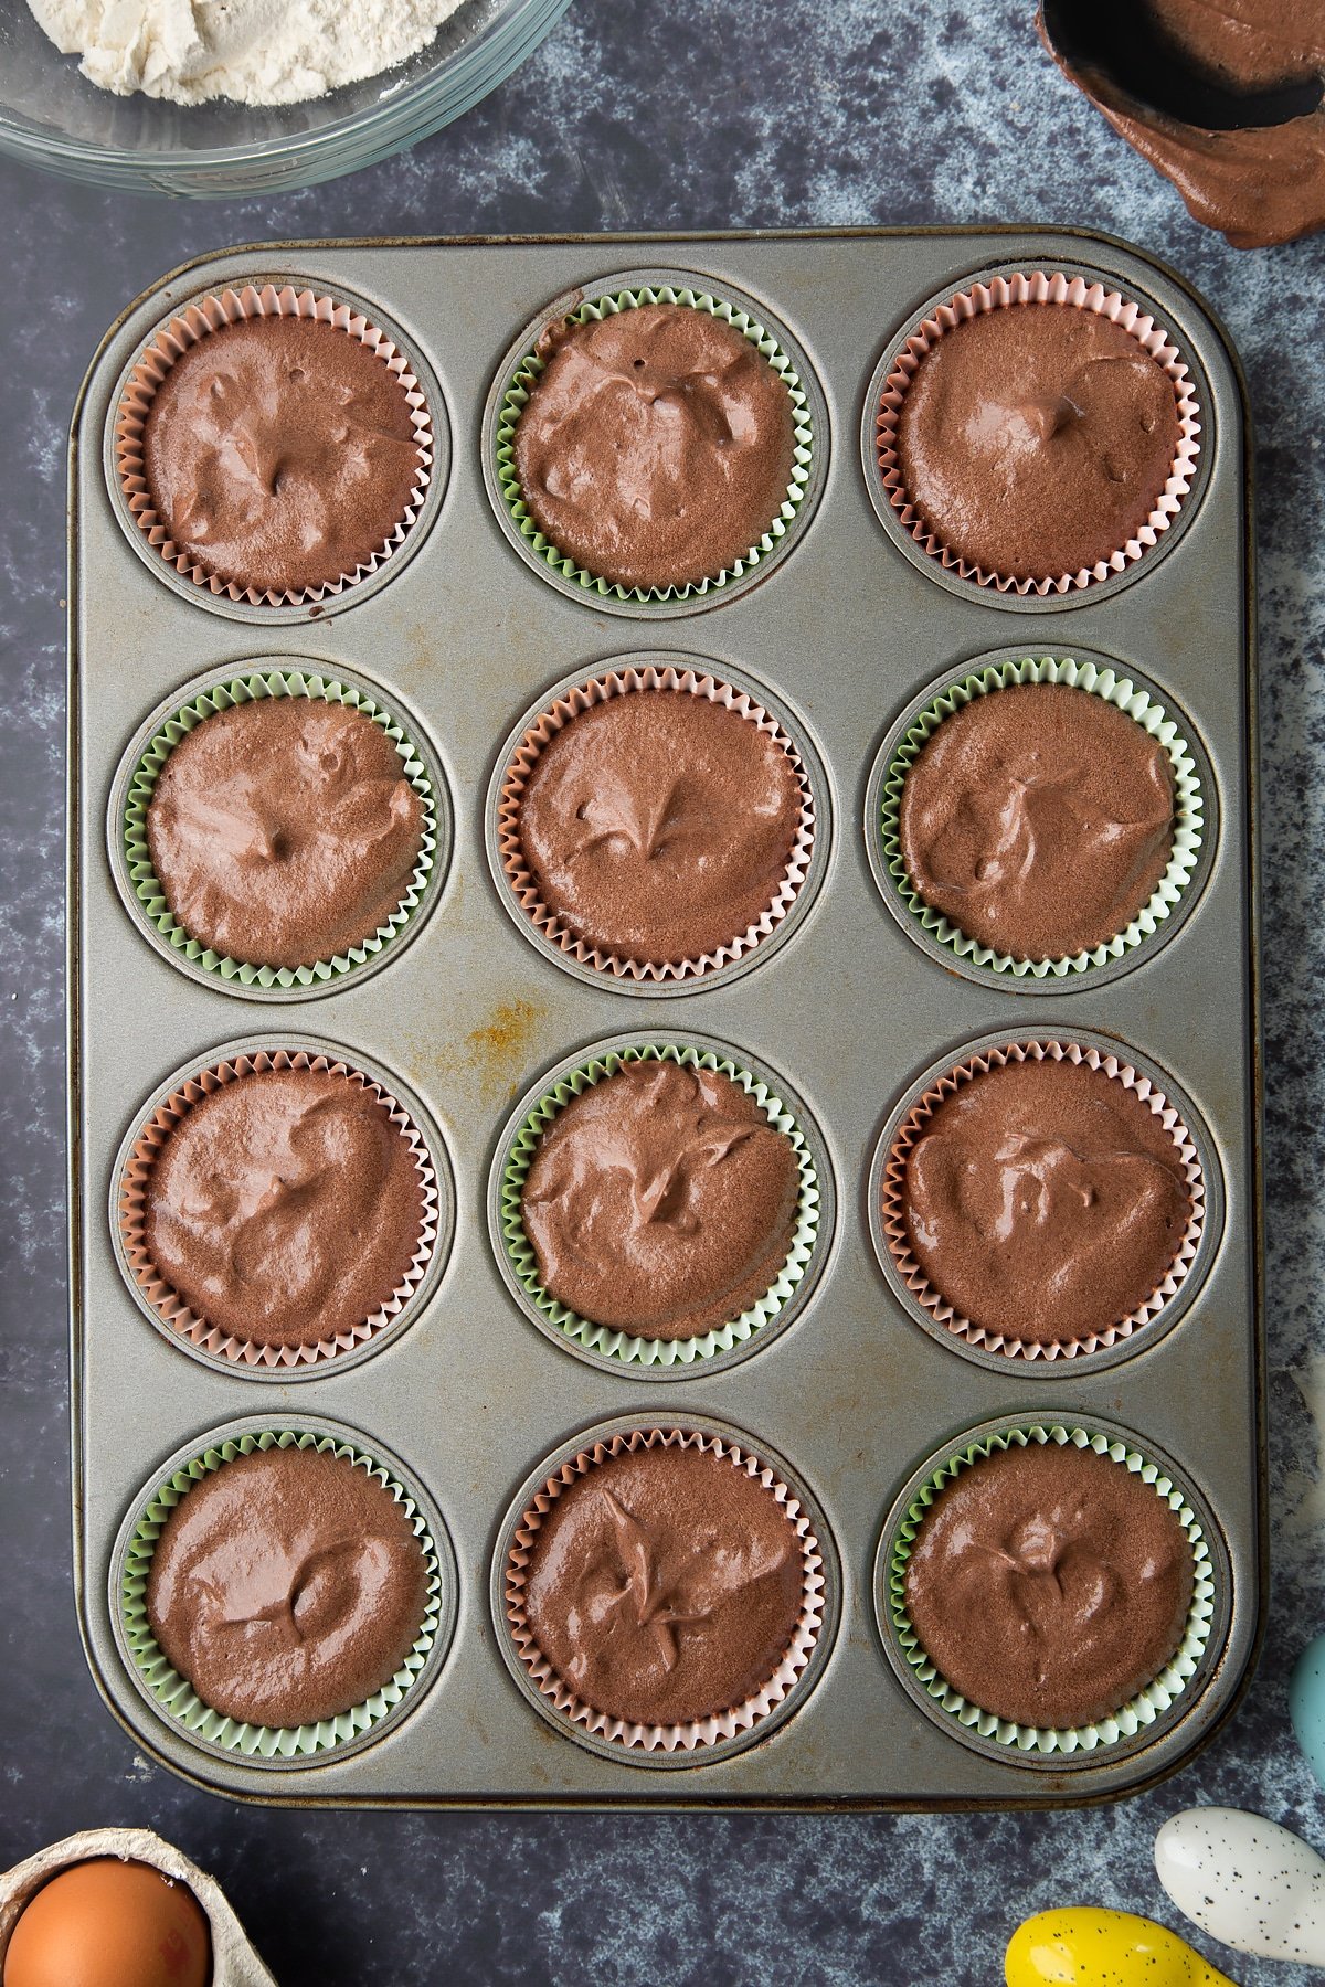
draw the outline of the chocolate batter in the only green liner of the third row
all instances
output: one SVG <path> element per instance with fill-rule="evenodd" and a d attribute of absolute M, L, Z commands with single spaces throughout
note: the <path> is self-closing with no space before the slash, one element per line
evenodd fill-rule
<path fill-rule="evenodd" d="M 693 1339 L 777 1282 L 799 1190 L 791 1141 L 739 1083 L 642 1061 L 558 1111 L 520 1214 L 558 1303 L 636 1337 Z"/>

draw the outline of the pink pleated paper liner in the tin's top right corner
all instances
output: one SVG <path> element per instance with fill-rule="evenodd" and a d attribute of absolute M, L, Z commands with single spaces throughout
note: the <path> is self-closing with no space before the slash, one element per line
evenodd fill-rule
<path fill-rule="evenodd" d="M 896 445 L 902 401 L 926 352 L 932 352 L 940 338 L 954 330 L 954 326 L 967 318 L 977 318 L 987 310 L 1005 310 L 1009 304 L 1075 304 L 1079 310 L 1093 310 L 1097 316 L 1108 318 L 1110 324 L 1118 324 L 1130 332 L 1142 352 L 1148 352 L 1162 366 L 1174 383 L 1178 399 L 1178 449 L 1174 463 L 1158 503 L 1136 536 L 1093 566 L 1035 580 L 1015 578 L 1007 572 L 987 572 L 983 566 L 952 552 L 910 501 Z M 995 276 L 991 282 L 975 282 L 969 290 L 957 290 L 956 296 L 940 304 L 932 316 L 918 324 L 898 352 L 884 382 L 876 427 L 878 467 L 898 523 L 922 550 L 938 558 L 950 572 L 956 572 L 963 580 L 973 580 L 977 586 L 991 586 L 999 594 L 1067 594 L 1073 588 L 1106 580 L 1112 572 L 1124 572 L 1126 566 L 1134 564 L 1158 544 L 1178 517 L 1196 477 L 1198 437 L 1202 431 L 1192 376 L 1168 332 L 1140 304 L 1118 290 L 1106 290 L 1103 282 L 1089 282 L 1085 276 L 1065 276 L 1063 272 L 1047 276 L 1043 270 L 1035 270 L 1029 276 Z"/>

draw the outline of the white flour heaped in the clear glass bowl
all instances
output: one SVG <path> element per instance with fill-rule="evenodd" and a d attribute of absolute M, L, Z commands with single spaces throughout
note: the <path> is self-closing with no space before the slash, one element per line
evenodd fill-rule
<path fill-rule="evenodd" d="M 28 0 L 101 89 L 304 103 L 395 68 L 461 0 Z"/>

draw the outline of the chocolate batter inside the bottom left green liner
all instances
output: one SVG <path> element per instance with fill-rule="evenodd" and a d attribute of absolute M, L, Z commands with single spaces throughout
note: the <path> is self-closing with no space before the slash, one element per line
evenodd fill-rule
<path fill-rule="evenodd" d="M 205 1705 L 316 1725 L 395 1675 L 427 1605 L 409 1518 L 366 1468 L 316 1449 L 222 1462 L 173 1508 L 147 1619 Z"/>

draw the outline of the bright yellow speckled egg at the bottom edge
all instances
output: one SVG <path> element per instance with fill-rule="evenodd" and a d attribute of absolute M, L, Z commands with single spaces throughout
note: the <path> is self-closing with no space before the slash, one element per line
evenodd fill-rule
<path fill-rule="evenodd" d="M 1027 1917 L 1003 1971 L 1007 1987 L 1236 1987 L 1176 1931 L 1089 1904 Z"/>

